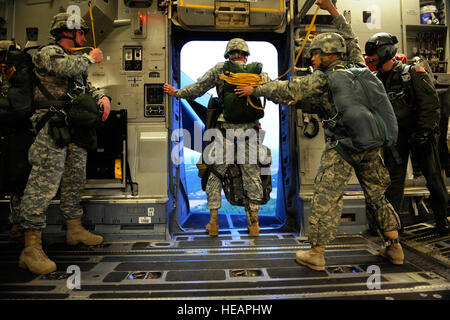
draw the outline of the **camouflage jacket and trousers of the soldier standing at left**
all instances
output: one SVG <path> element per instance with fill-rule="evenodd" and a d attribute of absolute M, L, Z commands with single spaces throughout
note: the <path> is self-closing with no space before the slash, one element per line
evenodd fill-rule
<path fill-rule="evenodd" d="M 72 95 L 89 93 L 95 99 L 104 94 L 86 81 L 88 67 L 95 63 L 87 54 L 73 54 L 57 44 L 43 47 L 33 55 L 36 75 L 42 85 L 58 100 L 67 100 L 69 79 L 73 78 L 77 90 Z M 47 98 L 38 88 L 37 103 Z M 31 117 L 33 125 L 47 112 L 37 110 Z M 45 211 L 61 186 L 60 209 L 66 220 L 80 218 L 83 214 L 80 199 L 86 180 L 86 156 L 84 148 L 70 143 L 59 148 L 48 133 L 48 122 L 39 131 L 28 154 L 32 170 L 22 198 L 22 226 L 25 230 L 39 230 L 46 226 Z"/>

